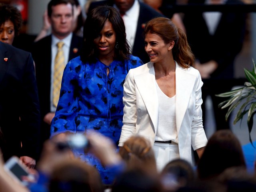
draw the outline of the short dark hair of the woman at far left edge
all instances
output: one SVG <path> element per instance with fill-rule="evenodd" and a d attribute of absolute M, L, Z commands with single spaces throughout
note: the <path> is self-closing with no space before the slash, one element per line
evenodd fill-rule
<path fill-rule="evenodd" d="M 13 23 L 14 35 L 17 36 L 23 22 L 20 11 L 14 6 L 0 3 L 0 26 L 8 20 Z"/>

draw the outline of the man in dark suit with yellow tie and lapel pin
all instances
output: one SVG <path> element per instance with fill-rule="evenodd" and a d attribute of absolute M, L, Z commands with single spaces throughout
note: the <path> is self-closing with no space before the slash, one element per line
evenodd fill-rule
<path fill-rule="evenodd" d="M 72 33 L 73 6 L 73 0 L 51 0 L 49 2 L 48 19 L 52 26 L 52 34 L 37 41 L 32 49 L 41 106 L 41 147 L 42 143 L 50 137 L 50 123 L 56 111 L 54 103 L 54 72 L 56 72 L 54 66 L 56 63 L 54 60 L 58 55 L 57 44 L 63 43 L 64 61 L 62 65 L 64 67 L 68 61 L 80 55 L 82 47 L 82 38 Z M 60 81 L 64 67 L 59 72 Z"/>

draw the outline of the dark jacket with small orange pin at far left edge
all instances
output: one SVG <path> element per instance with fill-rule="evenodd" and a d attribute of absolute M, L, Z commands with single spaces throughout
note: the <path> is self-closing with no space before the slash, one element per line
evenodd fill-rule
<path fill-rule="evenodd" d="M 4 58 L 8 60 L 4 61 Z M 4 159 L 12 155 L 36 159 L 39 126 L 40 110 L 32 56 L 0 42 L 0 127 Z"/>

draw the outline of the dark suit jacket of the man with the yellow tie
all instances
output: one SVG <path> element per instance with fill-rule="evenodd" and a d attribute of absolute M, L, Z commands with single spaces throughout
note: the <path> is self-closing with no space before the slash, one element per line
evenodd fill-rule
<path fill-rule="evenodd" d="M 70 44 L 69 59 L 78 57 L 82 47 L 82 37 L 72 35 Z M 38 84 L 38 94 L 41 106 L 41 138 L 44 142 L 50 136 L 50 125 L 44 123 L 44 116 L 50 112 L 50 86 L 51 86 L 51 43 L 52 35 L 44 37 L 40 41 L 36 42 L 32 49 L 32 56 L 36 65 L 36 81 Z M 74 48 L 78 51 L 74 52 Z M 41 143 L 42 144 L 42 143 Z"/>

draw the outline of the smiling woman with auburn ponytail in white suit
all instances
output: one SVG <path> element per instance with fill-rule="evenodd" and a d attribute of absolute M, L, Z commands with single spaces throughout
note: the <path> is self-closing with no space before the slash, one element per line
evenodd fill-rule
<path fill-rule="evenodd" d="M 124 83 L 124 117 L 119 146 L 134 134 L 150 140 L 158 170 L 177 158 L 192 163 L 207 143 L 202 124 L 202 80 L 191 67 L 186 35 L 168 18 L 145 26 L 150 62 L 131 69 Z"/>

